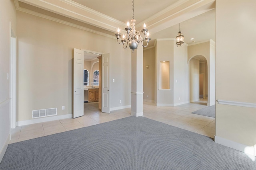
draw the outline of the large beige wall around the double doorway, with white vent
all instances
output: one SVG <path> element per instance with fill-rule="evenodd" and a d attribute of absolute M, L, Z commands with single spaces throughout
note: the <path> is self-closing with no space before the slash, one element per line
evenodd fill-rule
<path fill-rule="evenodd" d="M 116 80 L 110 81 L 110 109 L 131 104 L 131 54 L 116 39 L 23 12 L 17 12 L 17 29 L 17 121 L 32 119 L 35 109 L 57 107 L 58 115 L 73 113 L 74 48 L 110 53 L 110 80 Z"/>

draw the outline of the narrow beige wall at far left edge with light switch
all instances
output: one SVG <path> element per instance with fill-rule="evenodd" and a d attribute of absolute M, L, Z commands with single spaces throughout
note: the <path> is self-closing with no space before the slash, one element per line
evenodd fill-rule
<path fill-rule="evenodd" d="M 0 162 L 10 140 L 10 23 L 16 33 L 16 9 L 10 0 L 0 1 Z"/>

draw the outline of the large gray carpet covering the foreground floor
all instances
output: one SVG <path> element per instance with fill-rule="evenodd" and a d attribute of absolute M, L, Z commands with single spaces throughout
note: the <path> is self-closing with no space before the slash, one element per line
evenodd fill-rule
<path fill-rule="evenodd" d="M 246 154 L 145 117 L 10 144 L 1 170 L 253 170 Z"/>

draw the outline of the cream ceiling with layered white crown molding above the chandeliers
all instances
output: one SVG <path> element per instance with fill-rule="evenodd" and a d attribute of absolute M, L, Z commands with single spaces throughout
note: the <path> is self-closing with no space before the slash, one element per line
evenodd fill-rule
<path fill-rule="evenodd" d="M 111 38 L 115 38 L 118 27 L 121 34 L 125 33 L 126 22 L 132 19 L 132 0 L 14 2 L 17 10 L 56 18 Z M 215 41 L 215 0 L 134 0 L 134 19 L 136 30 L 146 23 L 151 38 L 148 47 L 154 45 L 155 39 L 175 38 L 179 23 L 185 43 Z"/>

